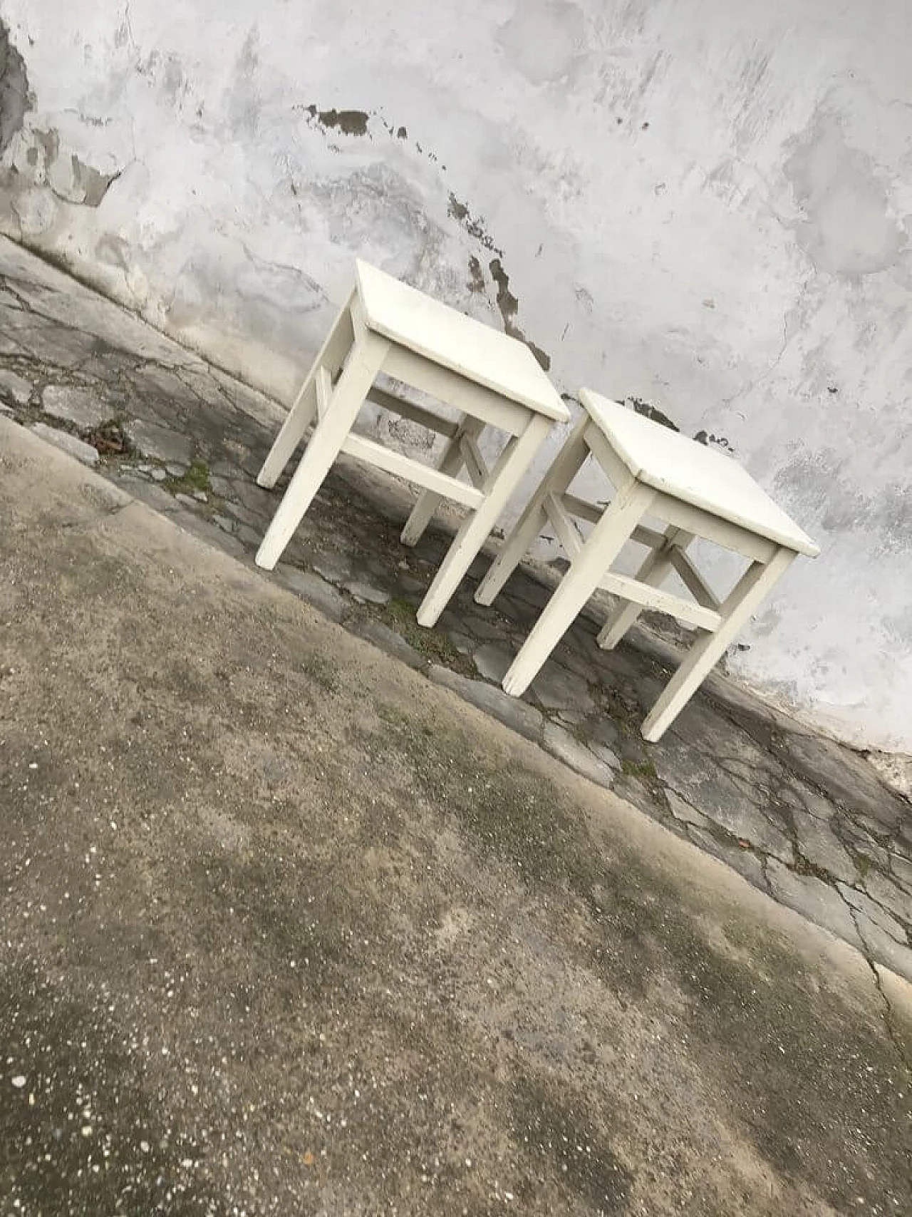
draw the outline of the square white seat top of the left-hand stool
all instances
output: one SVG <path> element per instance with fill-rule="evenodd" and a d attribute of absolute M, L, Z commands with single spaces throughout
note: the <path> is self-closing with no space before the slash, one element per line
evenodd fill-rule
<path fill-rule="evenodd" d="M 355 276 L 371 330 L 556 422 L 570 421 L 569 410 L 525 343 L 366 262 L 355 262 Z"/>

